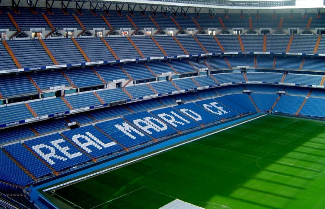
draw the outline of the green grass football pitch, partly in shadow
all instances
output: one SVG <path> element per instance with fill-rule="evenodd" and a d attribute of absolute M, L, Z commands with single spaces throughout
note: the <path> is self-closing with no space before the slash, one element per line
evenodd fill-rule
<path fill-rule="evenodd" d="M 325 208 L 325 123 L 267 115 L 49 192 L 72 208 Z M 69 201 L 69 202 L 68 202 Z"/>

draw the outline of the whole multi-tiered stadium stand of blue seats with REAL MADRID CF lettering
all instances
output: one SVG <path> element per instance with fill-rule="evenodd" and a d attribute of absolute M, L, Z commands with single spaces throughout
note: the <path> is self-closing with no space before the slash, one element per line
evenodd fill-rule
<path fill-rule="evenodd" d="M 273 15 L 1 6 L 0 192 L 33 209 L 35 182 L 274 105 L 324 119 L 325 15 Z"/>

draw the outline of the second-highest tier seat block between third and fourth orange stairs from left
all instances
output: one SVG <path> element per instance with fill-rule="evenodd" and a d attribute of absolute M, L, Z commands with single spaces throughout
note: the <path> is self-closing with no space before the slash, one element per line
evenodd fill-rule
<path fill-rule="evenodd" d="M 98 17 L 98 16 L 95 16 Z M 92 62 L 115 60 L 110 50 L 104 42 L 98 38 L 82 38 L 76 39 L 81 48 L 86 53 L 87 57 Z"/>

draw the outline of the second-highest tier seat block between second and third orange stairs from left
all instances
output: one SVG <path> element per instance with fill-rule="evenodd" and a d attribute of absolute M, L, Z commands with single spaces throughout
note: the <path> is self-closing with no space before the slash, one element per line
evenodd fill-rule
<path fill-rule="evenodd" d="M 59 64 L 86 62 L 71 39 L 45 39 L 44 42 Z"/>

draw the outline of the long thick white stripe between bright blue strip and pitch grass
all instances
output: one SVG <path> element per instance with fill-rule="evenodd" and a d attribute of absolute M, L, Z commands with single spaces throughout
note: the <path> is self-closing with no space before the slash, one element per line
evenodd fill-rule
<path fill-rule="evenodd" d="M 247 120 L 247 121 L 243 121 L 243 122 L 237 123 L 237 124 L 232 125 L 232 126 L 229 126 L 229 127 L 227 127 L 227 128 L 224 128 L 224 129 L 221 129 L 221 130 L 218 130 L 218 131 L 212 132 L 212 133 L 210 133 L 210 134 L 206 134 L 206 135 L 200 136 L 200 137 L 195 138 L 195 139 L 192 139 L 192 140 L 190 140 L 190 141 L 187 141 L 187 142 L 184 142 L 184 143 L 181 143 L 181 144 L 175 145 L 175 146 L 168 147 L 168 148 L 163 149 L 163 150 L 160 150 L 160 151 L 158 151 L 158 152 L 154 152 L 154 153 L 151 153 L 151 154 L 149 154 L 149 155 L 146 155 L 146 156 L 143 156 L 143 157 L 140 157 L 140 158 L 137 158 L 137 159 L 134 159 L 134 160 L 131 160 L 131 161 L 128 161 L 128 162 L 122 163 L 122 164 L 120 164 L 120 165 L 117 165 L 117 166 L 114 166 L 114 167 L 111 167 L 111 168 L 107 168 L 107 169 L 104 169 L 104 170 L 98 171 L 98 172 L 96 172 L 96 173 L 92 173 L 92 174 L 89 174 L 89 175 L 87 175 L 87 176 L 84 176 L 84 177 L 81 177 L 81 178 L 78 178 L 78 179 L 75 179 L 75 180 L 72 180 L 72 181 L 68 181 L 68 182 L 65 182 L 65 183 L 62 183 L 62 184 L 59 184 L 59 185 L 56 185 L 56 186 L 53 186 L 53 187 L 47 188 L 47 189 L 43 190 L 43 192 L 47 192 L 47 191 L 51 191 L 51 190 L 55 190 L 55 189 L 57 189 L 57 188 L 59 188 L 59 187 L 63 187 L 63 186 L 66 186 L 66 185 L 68 185 L 68 184 L 72 184 L 72 183 L 75 183 L 75 182 L 77 182 L 77 181 L 84 180 L 84 179 L 90 178 L 90 177 L 92 177 L 92 176 L 96 176 L 96 175 L 98 175 L 98 174 L 105 173 L 105 172 L 107 172 L 107 171 L 110 171 L 110 170 L 113 170 L 113 169 L 116 169 L 116 168 L 123 167 L 123 166 L 125 166 L 125 165 L 130 164 L 130 163 L 134 163 L 134 162 L 136 162 L 136 161 L 140 161 L 140 160 L 142 160 L 142 159 L 144 159 L 144 158 L 147 158 L 147 157 L 151 157 L 151 156 L 157 155 L 157 154 L 159 154 L 159 153 L 165 152 L 165 151 L 170 150 L 170 149 L 173 149 L 173 148 L 175 148 L 175 147 L 182 146 L 182 145 L 188 144 L 188 143 L 190 143 L 190 142 L 194 142 L 194 141 L 199 140 L 199 139 L 201 139 L 201 138 L 204 138 L 204 137 L 206 137 L 206 136 L 210 136 L 210 135 L 213 135 L 213 134 L 216 134 L 216 133 L 219 133 L 219 132 L 225 131 L 225 130 L 227 130 L 227 129 L 230 129 L 230 128 L 233 128 L 233 127 L 239 126 L 239 125 L 241 125 L 241 124 L 244 124 L 244 123 L 247 123 L 247 122 L 250 122 L 250 121 L 256 120 L 256 119 L 261 118 L 261 117 L 264 117 L 264 116 L 266 116 L 266 114 L 261 115 L 261 116 L 258 116 L 258 117 L 256 117 L 256 118 L 252 118 L 252 119 Z"/>

